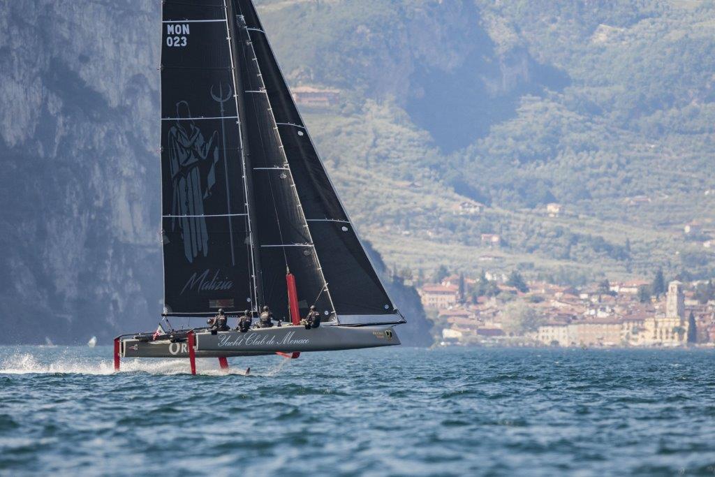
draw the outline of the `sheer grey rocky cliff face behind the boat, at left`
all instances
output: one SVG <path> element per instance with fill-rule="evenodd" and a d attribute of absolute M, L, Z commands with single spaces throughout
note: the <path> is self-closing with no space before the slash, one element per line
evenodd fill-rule
<path fill-rule="evenodd" d="M 0 0 L 1 342 L 157 319 L 158 22 L 158 1 Z"/>

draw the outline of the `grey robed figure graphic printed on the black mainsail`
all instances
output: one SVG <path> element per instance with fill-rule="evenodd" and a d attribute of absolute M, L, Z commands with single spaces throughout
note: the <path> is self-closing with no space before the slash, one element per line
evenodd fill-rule
<path fill-rule="evenodd" d="M 204 200 L 216 183 L 219 160 L 218 132 L 207 141 L 191 118 L 189 104 L 177 103 L 177 122 L 169 129 L 169 167 L 174 186 L 172 229 L 181 230 L 184 254 L 189 262 L 208 254 L 209 236 L 204 219 Z"/>

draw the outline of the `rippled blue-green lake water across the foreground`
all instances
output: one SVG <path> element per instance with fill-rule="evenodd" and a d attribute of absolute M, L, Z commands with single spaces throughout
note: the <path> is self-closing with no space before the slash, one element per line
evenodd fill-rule
<path fill-rule="evenodd" d="M 111 353 L 0 348 L 0 474 L 715 473 L 711 350 Z"/>

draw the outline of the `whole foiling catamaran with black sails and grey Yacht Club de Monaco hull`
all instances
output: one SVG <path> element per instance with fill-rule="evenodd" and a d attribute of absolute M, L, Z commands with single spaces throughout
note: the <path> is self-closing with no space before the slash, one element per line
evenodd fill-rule
<path fill-rule="evenodd" d="M 162 1 L 164 311 L 120 358 L 219 358 L 399 345 L 380 282 L 310 139 L 251 0 Z M 174 329 L 219 309 L 285 324 Z M 311 305 L 322 325 L 300 325 Z M 190 322 L 189 322 L 190 323 Z"/>

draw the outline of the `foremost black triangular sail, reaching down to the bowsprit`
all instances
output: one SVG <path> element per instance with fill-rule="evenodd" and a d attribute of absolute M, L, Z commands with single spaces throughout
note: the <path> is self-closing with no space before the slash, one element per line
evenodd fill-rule
<path fill-rule="evenodd" d="M 394 321 L 392 315 L 396 313 L 395 306 L 365 253 L 355 227 L 347 217 L 318 157 L 252 1 L 232 0 L 232 3 L 237 16 L 236 26 L 245 24 L 245 39 L 250 40 L 251 52 L 255 54 L 255 67 L 260 72 L 260 84 L 252 87 L 265 88 L 260 101 L 267 101 L 272 108 L 278 132 L 276 140 L 280 140 L 282 152 L 290 166 L 290 177 L 296 185 L 301 212 L 308 225 L 307 232 L 312 236 L 312 245 L 317 260 L 320 260 L 334 310 L 340 316 L 341 323 Z M 280 176 L 280 173 L 275 172 L 274 177 L 276 175 Z M 308 239 L 303 230 L 292 232 L 297 234 L 297 241 Z M 301 294 L 300 276 L 297 280 L 299 295 L 303 300 L 305 295 Z"/>

